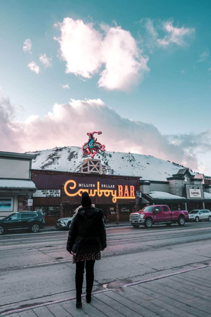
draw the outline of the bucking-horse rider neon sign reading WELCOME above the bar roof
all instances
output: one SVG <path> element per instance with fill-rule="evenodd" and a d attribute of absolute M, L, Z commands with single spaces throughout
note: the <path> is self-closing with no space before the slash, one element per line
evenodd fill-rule
<path fill-rule="evenodd" d="M 95 156 L 99 151 L 105 151 L 105 145 L 101 144 L 100 142 L 97 142 L 97 139 L 94 138 L 94 134 L 97 133 L 98 135 L 101 134 L 101 131 L 94 131 L 94 132 L 88 132 L 87 135 L 89 136 L 88 142 L 85 142 L 82 146 L 82 152 L 84 154 L 90 155 L 91 158 Z"/>

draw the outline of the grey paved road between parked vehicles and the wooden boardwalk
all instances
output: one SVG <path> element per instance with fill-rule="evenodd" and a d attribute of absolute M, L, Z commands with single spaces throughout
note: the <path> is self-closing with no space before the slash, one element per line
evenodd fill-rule
<path fill-rule="evenodd" d="M 108 248 L 95 265 L 94 291 L 211 263 L 211 223 L 107 229 Z M 75 295 L 67 232 L 0 237 L 0 313 Z"/>

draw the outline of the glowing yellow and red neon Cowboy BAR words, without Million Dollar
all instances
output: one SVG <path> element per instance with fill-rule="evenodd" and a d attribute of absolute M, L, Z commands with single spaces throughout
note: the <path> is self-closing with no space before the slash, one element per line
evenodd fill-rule
<path fill-rule="evenodd" d="M 115 189 L 102 189 L 104 188 L 104 185 L 100 185 L 100 182 L 97 182 L 97 188 L 96 189 L 82 189 L 80 188 L 78 191 L 74 192 L 74 189 L 76 188 L 76 181 L 73 179 L 70 179 L 66 181 L 64 185 L 64 191 L 67 196 L 74 197 L 74 196 L 81 196 L 83 192 L 87 192 L 90 197 L 98 196 L 102 197 L 104 195 L 105 197 L 112 196 L 113 203 L 116 203 L 117 199 L 135 199 L 135 187 L 133 185 L 117 185 L 118 191 Z M 88 187 L 88 186 L 87 186 Z M 93 186 L 95 187 L 95 186 Z M 112 186 L 113 188 L 113 186 Z"/>

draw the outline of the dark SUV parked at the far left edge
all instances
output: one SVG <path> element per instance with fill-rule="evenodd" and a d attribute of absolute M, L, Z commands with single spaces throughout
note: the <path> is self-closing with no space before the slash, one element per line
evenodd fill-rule
<path fill-rule="evenodd" d="M 23 211 L 13 213 L 0 219 L 0 235 L 8 231 L 19 231 L 29 229 L 38 232 L 45 226 L 45 217 L 40 212 Z"/>

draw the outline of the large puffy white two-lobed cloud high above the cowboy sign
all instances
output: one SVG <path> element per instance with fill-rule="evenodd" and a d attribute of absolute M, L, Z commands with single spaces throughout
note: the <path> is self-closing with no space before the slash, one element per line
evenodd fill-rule
<path fill-rule="evenodd" d="M 148 57 L 142 55 L 129 31 L 119 26 L 101 26 L 65 18 L 56 24 L 61 31 L 55 39 L 60 44 L 61 58 L 66 61 L 66 73 L 91 78 L 99 73 L 99 87 L 108 90 L 128 90 L 139 82 L 147 67 Z"/>

